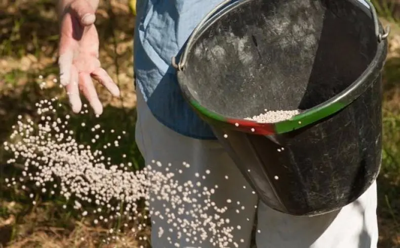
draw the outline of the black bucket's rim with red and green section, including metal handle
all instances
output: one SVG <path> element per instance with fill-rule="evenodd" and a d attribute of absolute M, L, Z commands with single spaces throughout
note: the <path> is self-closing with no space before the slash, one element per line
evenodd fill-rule
<path fill-rule="evenodd" d="M 184 49 L 186 53 L 183 54 L 186 59 L 186 56 L 191 52 L 191 45 L 194 44 L 198 38 L 209 28 L 213 23 L 222 18 L 225 14 L 227 14 L 230 10 L 238 8 L 242 4 L 247 2 L 251 2 L 254 0 L 243 0 L 243 1 L 224 1 L 222 4 L 216 7 L 216 9 L 222 9 L 222 13 L 216 13 L 216 11 L 211 11 L 206 18 L 202 21 L 201 24 L 196 28 L 197 32 L 193 31 L 192 36 L 189 38 L 190 42 L 185 44 Z M 377 49 L 374 58 L 367 66 L 367 68 L 363 71 L 361 75 L 358 76 L 354 82 L 352 82 L 348 87 L 346 87 L 342 92 L 338 93 L 334 97 L 329 100 L 318 104 L 312 108 L 301 111 L 299 114 L 293 116 L 291 119 L 274 122 L 274 123 L 260 123 L 253 120 L 246 120 L 241 118 L 232 118 L 228 116 L 223 116 L 214 111 L 211 111 L 205 107 L 203 107 L 198 101 L 195 100 L 194 96 L 190 93 L 187 86 L 181 83 L 179 80 L 180 75 L 183 73 L 183 66 L 175 64 L 175 58 L 173 58 L 173 66 L 177 68 L 178 75 L 178 83 L 183 91 L 183 95 L 189 104 L 195 109 L 195 111 L 199 112 L 203 117 L 212 122 L 226 123 L 233 129 L 240 129 L 244 132 L 249 132 L 253 134 L 261 134 L 261 135 L 272 135 L 272 134 L 282 134 L 291 132 L 296 129 L 300 129 L 306 127 L 312 123 L 315 123 L 319 120 L 322 120 L 326 117 L 329 117 L 340 110 L 344 109 L 348 105 L 350 105 L 353 101 L 357 99 L 359 95 L 361 95 L 371 84 L 375 81 L 375 79 L 379 76 L 381 71 L 381 66 L 383 65 L 386 55 L 387 55 L 387 36 L 389 33 L 389 28 L 383 30 L 383 27 L 379 20 L 376 17 L 376 11 L 373 4 L 369 0 L 365 0 L 368 7 L 365 6 L 362 2 L 358 0 L 347 0 L 348 2 L 357 2 L 357 4 L 361 5 L 359 8 L 364 8 L 371 15 L 371 19 L 373 19 L 374 23 L 378 25 L 378 30 L 376 30 L 377 34 Z M 225 3 L 225 4 L 224 4 Z M 227 3 L 230 3 L 230 6 L 226 6 Z M 367 13 L 366 13 L 367 14 Z M 376 20 L 375 20 L 376 19 Z M 384 31 L 384 32 L 382 32 Z M 188 47 L 190 46 L 190 47 Z M 189 49 L 188 49 L 189 48 Z M 182 61 L 182 59 L 181 59 Z M 364 83 L 368 81 L 370 83 Z"/>

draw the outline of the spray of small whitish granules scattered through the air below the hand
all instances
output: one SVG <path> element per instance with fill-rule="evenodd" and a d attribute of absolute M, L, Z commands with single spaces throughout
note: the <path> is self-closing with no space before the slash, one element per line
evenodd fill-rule
<path fill-rule="evenodd" d="M 140 234 L 147 224 L 139 220 L 151 217 L 153 223 L 167 220 L 172 224 L 172 230 L 158 230 L 160 236 L 170 235 L 167 239 L 172 245 L 175 244 L 174 240 L 183 238 L 193 244 L 209 241 L 216 247 L 236 246 L 234 239 L 239 240 L 239 237 L 233 237 L 232 231 L 237 227 L 230 226 L 229 219 L 221 218 L 231 206 L 218 207 L 212 201 L 218 186 L 207 188 L 201 181 L 211 173 L 210 170 L 205 171 L 205 175 L 197 173 L 198 180 L 195 182 L 182 182 L 175 179 L 175 173 L 181 174 L 190 168 L 186 162 L 182 163 L 181 169 L 175 171 L 174 168 L 174 172 L 171 164 L 163 165 L 159 161 L 152 161 L 144 169 L 135 172 L 128 170 L 132 163 L 112 164 L 111 159 L 104 155 L 104 150 L 76 141 L 74 132 L 67 128 L 70 116 L 61 118 L 55 115 L 56 108 L 61 107 L 57 101 L 57 98 L 53 98 L 36 104 L 37 114 L 41 116 L 40 123 L 19 116 L 10 141 L 4 143 L 5 150 L 13 156 L 8 164 L 18 161 L 24 165 L 18 181 L 23 190 L 27 193 L 36 191 L 62 195 L 82 216 L 94 215 L 95 225 L 111 225 L 113 220 L 121 220 L 123 227 Z M 86 108 L 85 105 L 82 114 L 87 113 Z M 79 126 L 85 127 L 87 124 Z M 89 128 L 96 143 L 104 130 L 99 124 Z M 111 133 L 114 132 L 111 130 Z M 121 136 L 116 141 L 110 141 L 110 145 L 114 143 L 117 147 L 118 140 L 121 140 Z M 126 157 L 123 151 L 121 157 Z M 5 181 L 9 186 L 18 186 L 15 178 L 6 178 Z M 36 189 L 25 187 L 27 182 L 33 183 Z M 37 201 L 33 201 L 34 194 L 29 195 L 32 204 L 37 205 Z M 145 212 L 139 204 L 141 201 L 144 201 Z M 159 212 L 150 207 L 154 201 L 161 201 L 166 211 Z M 62 208 L 66 209 L 67 206 L 63 205 Z M 168 214 L 170 209 L 177 209 L 178 214 Z M 238 209 L 245 208 L 238 206 Z M 239 210 L 236 212 L 241 214 Z M 118 232 L 109 230 L 113 235 Z M 139 240 L 146 239 L 139 237 Z"/>

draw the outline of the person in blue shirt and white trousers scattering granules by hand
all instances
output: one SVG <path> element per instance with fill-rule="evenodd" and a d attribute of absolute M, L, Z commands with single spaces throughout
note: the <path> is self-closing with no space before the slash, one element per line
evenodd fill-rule
<path fill-rule="evenodd" d="M 364 1 L 364 0 L 359 0 Z M 239 201 L 245 211 L 238 215 L 234 208 L 225 213 L 235 228 L 238 247 L 250 247 L 252 228 L 257 219 L 258 248 L 374 248 L 378 242 L 376 182 L 344 208 L 313 217 L 298 217 L 277 212 L 257 196 L 245 192 L 250 188 L 210 127 L 192 112 L 178 87 L 171 58 L 179 54 L 185 41 L 202 18 L 221 0 L 139 0 L 134 37 L 134 71 L 137 93 L 136 141 L 146 164 L 171 163 L 175 169 L 182 162 L 190 168 L 179 174 L 179 180 L 195 181 L 196 173 L 207 175 L 203 185 L 219 185 L 215 199 L 222 206 L 227 199 Z M 98 59 L 99 39 L 95 11 L 99 0 L 60 0 L 60 81 L 69 95 L 74 112 L 81 110 L 79 91 L 90 102 L 96 114 L 102 105 L 92 78 L 102 83 L 113 95 L 118 87 Z M 226 180 L 229 178 L 229 180 Z M 161 202 L 150 207 L 165 212 Z M 255 207 L 256 206 L 256 207 Z M 171 210 L 174 211 L 174 210 Z M 257 216 L 257 218 L 256 218 Z M 152 225 L 152 247 L 175 247 L 168 235 L 158 236 L 160 228 L 172 224 L 156 220 Z M 239 229 L 239 230 L 238 230 Z M 211 242 L 192 243 L 176 235 L 180 247 L 214 247 Z"/>

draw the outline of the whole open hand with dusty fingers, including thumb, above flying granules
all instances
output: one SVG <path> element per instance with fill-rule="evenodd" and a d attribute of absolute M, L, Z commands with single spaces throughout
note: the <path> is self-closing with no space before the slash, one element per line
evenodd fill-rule
<path fill-rule="evenodd" d="M 60 82 L 65 86 L 72 111 L 82 109 L 79 90 L 96 115 L 103 112 L 92 78 L 102 83 L 114 96 L 119 89 L 99 61 L 99 36 L 94 25 L 99 0 L 60 0 L 61 26 L 59 43 Z M 46 27 L 44 27 L 46 28 Z"/>

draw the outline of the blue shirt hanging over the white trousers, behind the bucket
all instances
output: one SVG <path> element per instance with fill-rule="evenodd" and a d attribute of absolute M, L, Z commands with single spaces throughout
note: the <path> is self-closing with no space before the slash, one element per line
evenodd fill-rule
<path fill-rule="evenodd" d="M 364 0 L 358 0 L 367 6 Z M 181 94 L 171 58 L 196 25 L 222 0 L 138 0 L 134 44 L 137 90 L 154 117 L 172 130 L 198 139 L 215 139 Z"/>

